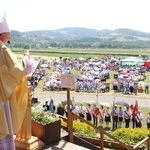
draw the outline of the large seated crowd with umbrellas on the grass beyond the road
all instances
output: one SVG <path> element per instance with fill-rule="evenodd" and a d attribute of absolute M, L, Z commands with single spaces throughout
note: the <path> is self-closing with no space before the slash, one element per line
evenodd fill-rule
<path fill-rule="evenodd" d="M 146 80 L 146 68 L 144 66 L 121 66 L 120 58 L 60 58 L 51 60 L 49 65 L 51 73 L 45 73 L 46 81 L 43 90 L 62 90 L 61 74 L 70 74 L 78 70 L 75 76 L 76 92 L 115 92 L 123 94 L 146 93 L 149 94 L 149 82 Z M 114 71 L 114 78 L 111 72 Z M 110 80 L 110 78 L 112 80 Z M 109 80 L 109 81 L 108 81 Z M 111 88 L 111 86 L 113 88 Z"/>

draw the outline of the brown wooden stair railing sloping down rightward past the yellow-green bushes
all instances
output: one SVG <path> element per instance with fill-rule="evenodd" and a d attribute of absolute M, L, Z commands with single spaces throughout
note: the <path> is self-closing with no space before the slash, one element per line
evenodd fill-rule
<path fill-rule="evenodd" d="M 114 141 L 118 142 L 118 144 L 120 144 L 122 147 L 126 148 L 127 150 L 136 150 L 140 145 L 142 145 L 143 143 L 147 142 L 147 150 L 150 150 L 150 137 L 146 137 L 144 140 L 142 140 L 141 142 L 139 142 L 138 144 L 136 144 L 134 147 L 128 146 L 125 143 L 123 143 L 122 141 L 118 140 L 117 138 L 115 138 L 114 136 L 112 136 L 111 134 L 107 133 L 106 131 L 102 130 L 101 128 L 93 125 L 92 123 L 88 122 L 87 120 L 83 119 L 82 117 L 72 113 L 72 121 L 73 118 L 77 118 L 79 119 L 81 122 L 84 122 L 86 124 L 88 124 L 89 126 L 93 127 L 95 130 L 97 130 L 100 133 L 100 149 L 104 150 L 104 135 L 108 136 L 109 138 L 113 139 Z M 69 114 L 68 114 L 69 115 Z M 68 123 L 68 120 L 66 117 L 64 116 L 60 116 L 61 119 L 63 119 L 64 122 Z M 72 127 L 73 128 L 73 127 Z M 69 132 L 68 132 L 69 133 Z M 71 133 L 71 135 L 73 135 L 73 133 Z M 73 137 L 71 137 L 71 139 L 73 139 Z M 70 141 L 71 142 L 71 141 Z"/>

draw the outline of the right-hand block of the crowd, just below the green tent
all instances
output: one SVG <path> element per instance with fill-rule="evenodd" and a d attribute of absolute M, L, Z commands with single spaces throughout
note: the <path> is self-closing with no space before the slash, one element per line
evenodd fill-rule
<path fill-rule="evenodd" d="M 149 82 L 146 81 L 145 70 L 140 70 L 138 65 L 118 70 L 112 83 L 115 92 L 137 95 L 138 92 L 145 91 L 149 94 Z"/>

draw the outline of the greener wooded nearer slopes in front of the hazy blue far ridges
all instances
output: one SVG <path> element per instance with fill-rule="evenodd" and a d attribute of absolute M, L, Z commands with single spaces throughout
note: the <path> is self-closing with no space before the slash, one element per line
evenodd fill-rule
<path fill-rule="evenodd" d="M 122 40 L 123 39 L 123 40 Z M 109 49 L 143 49 L 150 48 L 150 39 L 143 40 L 142 38 L 131 35 L 121 36 L 84 36 L 84 37 L 63 37 L 40 33 L 21 33 L 18 31 L 12 32 L 11 43 L 14 48 L 38 49 L 38 48 L 109 48 Z"/>

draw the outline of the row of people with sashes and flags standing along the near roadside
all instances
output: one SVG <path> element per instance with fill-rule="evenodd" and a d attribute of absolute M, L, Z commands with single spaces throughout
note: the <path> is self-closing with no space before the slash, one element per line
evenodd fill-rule
<path fill-rule="evenodd" d="M 53 103 L 53 100 L 48 100 L 43 105 L 46 111 L 51 111 L 61 116 L 68 117 L 68 105 L 63 106 L 58 104 L 56 107 Z M 53 107 L 51 109 L 50 107 Z M 53 111 L 52 111 L 53 110 Z M 83 119 L 93 123 L 95 126 L 115 130 L 117 128 L 141 128 L 143 122 L 143 114 L 136 105 L 133 106 L 122 106 L 113 104 L 110 106 L 103 106 L 96 104 L 80 104 L 79 106 L 76 103 L 70 105 L 70 110 L 72 113 L 79 115 Z M 75 119 L 75 118 L 74 118 Z M 150 112 L 146 118 L 147 128 L 150 129 Z"/>

